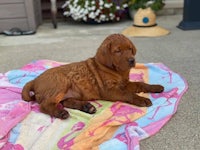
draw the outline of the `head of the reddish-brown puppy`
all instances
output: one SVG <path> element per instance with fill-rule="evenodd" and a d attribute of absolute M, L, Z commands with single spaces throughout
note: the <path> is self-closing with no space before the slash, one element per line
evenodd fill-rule
<path fill-rule="evenodd" d="M 100 45 L 95 59 L 116 71 L 127 71 L 135 66 L 136 48 L 122 34 L 111 34 Z"/>

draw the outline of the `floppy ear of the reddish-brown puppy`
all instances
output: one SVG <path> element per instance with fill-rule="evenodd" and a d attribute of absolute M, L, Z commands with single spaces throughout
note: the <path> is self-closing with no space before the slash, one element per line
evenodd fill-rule
<path fill-rule="evenodd" d="M 97 50 L 95 59 L 98 63 L 112 68 L 111 41 L 105 40 Z"/>

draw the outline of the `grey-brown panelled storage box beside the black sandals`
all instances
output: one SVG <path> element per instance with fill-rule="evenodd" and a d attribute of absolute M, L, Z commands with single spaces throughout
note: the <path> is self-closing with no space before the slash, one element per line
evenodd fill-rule
<path fill-rule="evenodd" d="M 0 32 L 11 28 L 35 31 L 41 22 L 40 0 L 0 0 Z"/>

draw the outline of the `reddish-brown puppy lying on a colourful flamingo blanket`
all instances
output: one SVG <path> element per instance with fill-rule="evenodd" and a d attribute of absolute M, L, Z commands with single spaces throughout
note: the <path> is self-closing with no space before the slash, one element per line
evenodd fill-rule
<path fill-rule="evenodd" d="M 122 101 L 137 106 L 151 106 L 139 92 L 162 92 L 161 85 L 129 82 L 129 71 L 135 66 L 136 48 L 121 34 L 108 36 L 95 57 L 82 62 L 49 69 L 28 82 L 22 91 L 26 101 L 36 100 L 40 110 L 51 116 L 66 119 L 69 114 L 62 107 L 95 113 L 89 100 Z M 31 94 L 31 92 L 33 94 Z"/>

